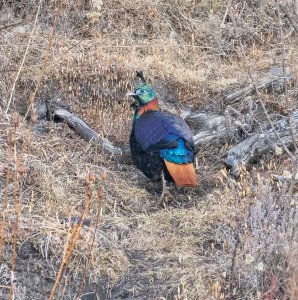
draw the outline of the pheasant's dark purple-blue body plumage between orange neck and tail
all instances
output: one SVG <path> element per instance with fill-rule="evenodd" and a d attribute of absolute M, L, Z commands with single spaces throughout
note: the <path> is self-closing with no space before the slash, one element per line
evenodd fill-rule
<path fill-rule="evenodd" d="M 164 171 L 172 181 L 164 160 L 176 164 L 192 163 L 192 133 L 183 119 L 159 110 L 146 111 L 134 120 L 130 136 L 132 158 L 148 178 L 158 180 Z"/>

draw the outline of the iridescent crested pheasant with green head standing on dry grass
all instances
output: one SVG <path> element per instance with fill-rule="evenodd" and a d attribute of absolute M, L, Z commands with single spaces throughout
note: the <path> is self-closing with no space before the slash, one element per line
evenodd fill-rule
<path fill-rule="evenodd" d="M 153 181 L 162 180 L 163 200 L 166 181 L 177 186 L 196 187 L 197 175 L 193 166 L 194 142 L 186 122 L 171 113 L 160 111 L 155 91 L 137 72 L 142 82 L 132 96 L 136 103 L 130 149 L 137 168 Z"/>

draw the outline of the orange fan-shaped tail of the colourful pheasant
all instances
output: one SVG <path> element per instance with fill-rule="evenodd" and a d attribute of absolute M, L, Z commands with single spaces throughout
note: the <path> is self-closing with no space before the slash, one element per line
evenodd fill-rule
<path fill-rule="evenodd" d="M 178 165 L 167 160 L 164 161 L 176 185 L 192 187 L 196 187 L 198 185 L 198 178 L 192 163 Z"/>

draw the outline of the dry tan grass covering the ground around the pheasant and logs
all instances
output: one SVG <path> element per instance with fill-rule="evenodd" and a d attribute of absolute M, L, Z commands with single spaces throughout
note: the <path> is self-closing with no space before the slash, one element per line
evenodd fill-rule
<path fill-rule="evenodd" d="M 52 289 L 60 266 L 57 299 L 73 299 L 82 285 L 114 299 L 296 299 L 297 194 L 289 198 L 287 184 L 271 180 L 272 173 L 291 171 L 285 156 L 273 163 L 266 156 L 236 182 L 221 171 L 223 149 L 202 149 L 200 188 L 175 190 L 168 206 L 158 209 L 156 186 L 134 166 L 111 160 L 64 124 L 45 122 L 46 131 L 40 132 L 38 123 L 28 133 L 28 121 L 14 124 L 12 114 L 26 112 L 42 78 L 40 101 L 65 100 L 102 135 L 125 144 L 132 111 L 123 95 L 138 69 L 167 91 L 164 99 L 222 111 L 221 96 L 249 82 L 247 63 L 256 80 L 281 65 L 276 2 L 239 1 L 232 7 L 226 1 L 57 2 L 58 28 L 43 68 L 54 20 L 50 2 L 42 7 L 13 109 L 5 114 L 36 3 L 0 4 L 0 196 L 8 200 L 7 207 L 0 203 L 5 225 L 1 297 L 8 297 L 10 286 L 19 299 L 49 297 L 46 286 Z M 294 2 L 281 3 L 295 20 Z M 233 13 L 225 15 L 227 9 Z M 285 15 L 283 32 L 288 67 L 297 72 L 297 38 Z M 293 103 L 295 93 L 289 91 Z M 285 108 L 284 95 L 265 100 L 271 110 L 273 103 Z M 245 112 L 245 106 L 234 108 Z M 11 141 L 8 132 L 14 127 Z M 16 212 L 18 252 L 12 257 Z M 44 262 L 32 273 L 49 278 L 39 286 L 44 290 L 39 296 L 20 269 L 28 243 Z"/>

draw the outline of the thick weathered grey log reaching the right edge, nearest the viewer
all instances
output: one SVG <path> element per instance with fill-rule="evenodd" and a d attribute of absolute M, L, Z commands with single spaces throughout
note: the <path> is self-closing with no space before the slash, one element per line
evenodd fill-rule
<path fill-rule="evenodd" d="M 284 117 L 276 122 L 274 126 L 279 138 L 287 147 L 293 145 L 292 133 L 295 139 L 297 138 L 298 110 L 293 112 L 292 124 L 293 128 L 290 128 L 288 118 Z M 273 129 L 264 133 L 256 133 L 232 147 L 228 151 L 224 163 L 237 176 L 239 175 L 239 166 L 241 163 L 248 164 L 256 161 L 261 155 L 273 152 L 276 147 L 281 148 L 282 144 Z"/>

